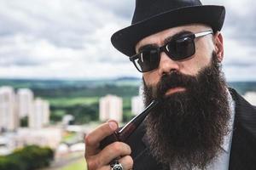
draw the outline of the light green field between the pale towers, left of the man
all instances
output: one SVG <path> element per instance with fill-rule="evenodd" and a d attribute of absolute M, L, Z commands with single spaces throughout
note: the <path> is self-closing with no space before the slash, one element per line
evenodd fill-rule
<path fill-rule="evenodd" d="M 48 98 L 50 120 L 60 122 L 65 115 L 74 116 L 74 124 L 96 122 L 99 118 L 98 97 Z M 131 97 L 123 97 L 123 121 L 131 119 Z"/>

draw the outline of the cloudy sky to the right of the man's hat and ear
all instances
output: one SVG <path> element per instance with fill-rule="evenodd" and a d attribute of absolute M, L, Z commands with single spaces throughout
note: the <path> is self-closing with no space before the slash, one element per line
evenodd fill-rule
<path fill-rule="evenodd" d="M 224 5 L 224 73 L 230 81 L 256 81 L 256 2 L 253 0 L 207 0 L 205 4 Z"/>

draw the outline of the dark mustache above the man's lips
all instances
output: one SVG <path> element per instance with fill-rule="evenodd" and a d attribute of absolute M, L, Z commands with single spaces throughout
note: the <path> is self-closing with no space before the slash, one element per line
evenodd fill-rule
<path fill-rule="evenodd" d="M 157 94 L 157 96 L 155 97 L 163 98 L 170 88 L 181 87 L 186 88 L 186 90 L 189 90 L 193 88 L 193 84 L 195 85 L 195 83 L 197 82 L 197 76 L 189 76 L 179 71 L 173 71 L 169 74 L 163 75 L 160 78 L 160 82 L 158 82 L 155 87 L 151 88 L 155 88 L 154 91 L 156 92 L 155 94 Z"/>

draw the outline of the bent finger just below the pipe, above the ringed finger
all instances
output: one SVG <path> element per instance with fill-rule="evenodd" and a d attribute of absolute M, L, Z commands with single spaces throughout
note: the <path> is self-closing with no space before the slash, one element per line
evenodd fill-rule
<path fill-rule="evenodd" d="M 128 156 L 131 154 L 131 147 L 123 142 L 114 142 L 106 146 L 99 154 L 100 165 L 108 165 L 110 161 L 120 156 Z"/>

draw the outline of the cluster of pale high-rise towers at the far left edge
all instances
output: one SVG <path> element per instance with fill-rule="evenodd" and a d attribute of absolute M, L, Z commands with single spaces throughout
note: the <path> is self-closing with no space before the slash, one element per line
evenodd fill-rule
<path fill-rule="evenodd" d="M 49 125 L 49 102 L 35 98 L 31 89 L 0 86 L 0 133 L 21 127 L 27 117 L 27 127 L 40 129 Z"/>

